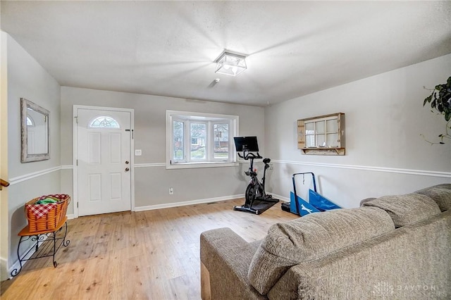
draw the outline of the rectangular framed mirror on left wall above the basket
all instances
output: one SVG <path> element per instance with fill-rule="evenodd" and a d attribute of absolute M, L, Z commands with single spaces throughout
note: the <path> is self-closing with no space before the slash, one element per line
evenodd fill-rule
<path fill-rule="evenodd" d="M 45 161 L 49 154 L 49 111 L 20 98 L 21 163 Z"/>

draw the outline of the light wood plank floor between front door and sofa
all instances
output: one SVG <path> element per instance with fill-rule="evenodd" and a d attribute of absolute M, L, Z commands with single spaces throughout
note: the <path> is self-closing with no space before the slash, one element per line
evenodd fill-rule
<path fill-rule="evenodd" d="M 1 282 L 1 299 L 200 299 L 199 235 L 230 227 L 248 242 L 296 215 L 280 203 L 261 215 L 233 211 L 243 199 L 68 220 L 70 244 L 29 261 Z"/>

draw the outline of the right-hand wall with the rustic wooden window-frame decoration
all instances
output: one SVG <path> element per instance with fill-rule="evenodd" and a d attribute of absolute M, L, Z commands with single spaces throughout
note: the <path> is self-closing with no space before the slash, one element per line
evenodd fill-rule
<path fill-rule="evenodd" d="M 275 160 L 268 185 L 289 199 L 292 174 L 314 172 L 323 196 L 351 208 L 451 182 L 451 141 L 431 146 L 420 136 L 438 141 L 445 132 L 443 116 L 423 107 L 423 87 L 445 83 L 450 70 L 451 55 L 442 56 L 266 108 L 265 149 Z M 346 115 L 346 155 L 302 154 L 296 121 L 329 113 Z"/>

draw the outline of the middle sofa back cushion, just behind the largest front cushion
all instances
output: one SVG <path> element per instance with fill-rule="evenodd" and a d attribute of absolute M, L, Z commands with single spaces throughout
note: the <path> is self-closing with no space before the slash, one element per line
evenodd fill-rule
<path fill-rule="evenodd" d="M 387 211 L 396 227 L 413 224 L 440 213 L 440 208 L 433 199 L 416 193 L 382 196 L 367 201 L 363 205 L 374 206 Z"/>

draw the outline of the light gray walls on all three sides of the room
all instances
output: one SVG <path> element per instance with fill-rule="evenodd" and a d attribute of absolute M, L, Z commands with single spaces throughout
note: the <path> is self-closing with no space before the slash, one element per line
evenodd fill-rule
<path fill-rule="evenodd" d="M 273 160 L 268 191 L 288 199 L 291 175 L 313 171 L 319 192 L 344 207 L 369 196 L 412 192 L 451 182 L 451 142 L 431 146 L 443 132 L 442 116 L 422 107 L 428 92 L 450 75 L 451 55 L 351 82 L 281 104 L 257 108 L 75 87 L 59 87 L 8 36 L 8 254 L 16 261 L 17 233 L 26 225 L 23 204 L 55 192 L 73 195 L 73 105 L 135 109 L 135 207 L 226 199 L 243 194 L 247 178 L 237 167 L 166 170 L 166 110 L 240 116 L 240 135 L 257 135 L 261 154 Z M 20 163 L 20 97 L 51 112 L 49 161 Z M 233 97 L 233 95 L 231 95 Z M 306 156 L 296 149 L 296 120 L 328 113 L 346 114 L 346 156 Z M 258 165 L 261 170 L 261 165 Z M 301 182 L 299 182 L 301 183 Z M 308 183 L 308 182 L 307 182 Z M 174 194 L 168 194 L 168 187 Z M 3 199 L 2 199 L 3 200 Z M 2 206 L 3 208 L 4 206 Z M 70 206 L 68 213 L 73 213 Z M 3 217 L 3 215 L 2 215 Z M 5 222 L 2 220 L 1 225 Z M 3 232 L 3 230 L 2 230 Z M 3 248 L 2 248 L 3 249 Z M 2 265 L 3 266 L 3 265 Z"/>

